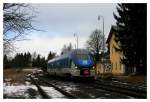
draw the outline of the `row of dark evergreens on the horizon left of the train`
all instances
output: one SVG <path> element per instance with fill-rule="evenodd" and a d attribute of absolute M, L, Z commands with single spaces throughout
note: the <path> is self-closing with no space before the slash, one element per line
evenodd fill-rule
<path fill-rule="evenodd" d="M 52 59 L 55 53 L 50 52 L 48 59 Z M 32 59 L 33 58 L 33 59 Z M 4 55 L 4 68 L 24 68 L 24 67 L 37 67 L 42 68 L 43 71 L 47 68 L 47 60 L 45 57 L 41 57 L 40 54 L 30 54 L 30 52 L 17 53 L 12 60 L 8 60 L 7 56 Z"/>

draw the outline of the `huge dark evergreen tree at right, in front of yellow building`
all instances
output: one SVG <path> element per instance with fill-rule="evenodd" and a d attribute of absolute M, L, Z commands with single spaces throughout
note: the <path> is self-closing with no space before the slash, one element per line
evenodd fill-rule
<path fill-rule="evenodd" d="M 117 24 L 116 41 L 128 68 L 137 68 L 137 73 L 146 74 L 147 67 L 147 5 L 146 3 L 123 3 L 114 14 Z"/>

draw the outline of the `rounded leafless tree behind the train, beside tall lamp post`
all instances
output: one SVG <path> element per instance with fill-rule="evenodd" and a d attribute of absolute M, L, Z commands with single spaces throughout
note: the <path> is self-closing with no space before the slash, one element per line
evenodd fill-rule
<path fill-rule="evenodd" d="M 99 52 L 103 50 L 103 34 L 100 30 L 94 30 L 86 42 L 87 49 L 94 53 L 99 60 Z"/>

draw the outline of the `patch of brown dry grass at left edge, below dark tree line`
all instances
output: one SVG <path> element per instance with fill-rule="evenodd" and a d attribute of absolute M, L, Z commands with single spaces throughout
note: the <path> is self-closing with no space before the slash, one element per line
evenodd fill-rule
<path fill-rule="evenodd" d="M 11 79 L 11 83 L 24 83 L 26 75 L 31 72 L 31 70 L 4 69 L 4 79 Z"/>

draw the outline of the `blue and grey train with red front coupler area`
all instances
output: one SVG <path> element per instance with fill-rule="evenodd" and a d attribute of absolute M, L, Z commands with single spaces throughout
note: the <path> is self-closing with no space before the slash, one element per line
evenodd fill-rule
<path fill-rule="evenodd" d="M 73 49 L 47 63 L 47 72 L 50 75 L 70 77 L 95 76 L 95 62 L 86 49 Z"/>

